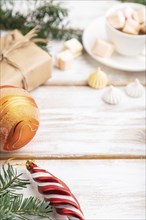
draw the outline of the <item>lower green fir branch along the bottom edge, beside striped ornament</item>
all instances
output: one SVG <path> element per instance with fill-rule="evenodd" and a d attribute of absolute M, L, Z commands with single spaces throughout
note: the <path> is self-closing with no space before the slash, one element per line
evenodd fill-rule
<path fill-rule="evenodd" d="M 29 220 L 29 216 L 40 216 L 48 219 L 52 211 L 48 202 L 38 198 L 29 197 L 23 199 L 23 195 L 6 193 L 0 196 L 1 220 Z"/>

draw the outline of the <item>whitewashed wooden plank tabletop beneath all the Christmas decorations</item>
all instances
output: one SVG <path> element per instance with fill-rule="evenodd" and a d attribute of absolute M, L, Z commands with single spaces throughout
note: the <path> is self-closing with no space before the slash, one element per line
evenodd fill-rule
<path fill-rule="evenodd" d="M 85 27 L 118 3 L 66 4 L 71 9 L 72 25 Z M 54 42 L 51 53 L 59 51 L 61 45 Z M 18 163 L 35 159 L 39 166 L 69 185 L 86 220 L 144 220 L 145 97 L 132 99 L 120 87 L 122 102 L 118 106 L 105 104 L 104 90 L 87 86 L 87 76 L 99 65 L 84 54 L 69 71 L 54 68 L 52 79 L 31 93 L 40 109 L 39 131 L 26 147 L 1 154 L 1 163 L 9 157 L 16 158 Z M 100 66 L 111 82 L 124 84 L 135 78 L 144 82 L 144 72 L 128 73 Z M 24 167 L 18 169 L 30 178 Z M 33 183 L 24 193 L 40 197 Z"/>

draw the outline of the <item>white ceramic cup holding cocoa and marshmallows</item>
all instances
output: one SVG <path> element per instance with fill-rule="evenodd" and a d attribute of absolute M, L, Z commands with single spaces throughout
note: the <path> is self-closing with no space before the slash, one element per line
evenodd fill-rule
<path fill-rule="evenodd" d="M 110 42 L 115 46 L 115 50 L 124 56 L 136 56 L 142 53 L 145 49 L 146 35 L 132 35 L 123 33 L 112 27 L 107 17 L 112 15 L 117 10 L 123 10 L 126 7 L 133 9 L 145 8 L 144 5 L 137 3 L 122 3 L 110 8 L 106 13 L 106 31 Z"/>

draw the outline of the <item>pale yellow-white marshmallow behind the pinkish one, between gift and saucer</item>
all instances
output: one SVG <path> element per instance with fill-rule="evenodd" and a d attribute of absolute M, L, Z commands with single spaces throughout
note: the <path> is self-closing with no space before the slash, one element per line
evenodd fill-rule
<path fill-rule="evenodd" d="M 77 39 L 72 38 L 64 43 L 63 50 L 66 49 L 70 50 L 74 57 L 78 57 L 82 54 L 83 46 Z"/>

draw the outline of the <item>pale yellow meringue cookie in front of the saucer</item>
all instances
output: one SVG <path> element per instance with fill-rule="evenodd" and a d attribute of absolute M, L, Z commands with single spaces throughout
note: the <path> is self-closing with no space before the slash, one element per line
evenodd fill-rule
<path fill-rule="evenodd" d="M 88 78 L 88 85 L 94 89 L 102 89 L 108 83 L 106 74 L 98 68 Z"/>

